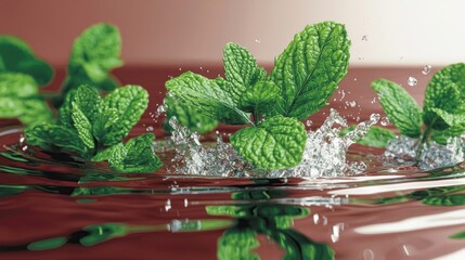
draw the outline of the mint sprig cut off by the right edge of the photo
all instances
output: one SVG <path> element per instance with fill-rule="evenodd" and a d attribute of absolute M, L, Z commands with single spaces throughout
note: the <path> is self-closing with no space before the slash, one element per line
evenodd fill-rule
<path fill-rule="evenodd" d="M 418 139 L 419 145 L 435 141 L 447 144 L 449 138 L 465 132 L 465 64 L 449 65 L 428 82 L 423 109 L 399 84 L 378 79 L 372 82 L 390 121 L 403 135 Z"/>

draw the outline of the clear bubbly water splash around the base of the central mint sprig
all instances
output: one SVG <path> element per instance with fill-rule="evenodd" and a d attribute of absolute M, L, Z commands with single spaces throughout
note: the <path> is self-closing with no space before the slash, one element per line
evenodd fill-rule
<path fill-rule="evenodd" d="M 204 146 L 198 133 L 191 132 L 181 126 L 176 117 L 172 117 L 169 123 L 175 129 L 171 141 L 176 147 L 176 155 L 170 170 L 173 173 L 198 176 L 262 177 L 266 174 L 271 178 L 319 178 L 359 173 L 366 169 L 366 165 L 348 162 L 346 154 L 349 146 L 366 134 L 370 127 L 378 120 L 379 115 L 374 114 L 370 120 L 359 123 L 353 131 L 339 136 L 340 127 L 347 127 L 347 120 L 335 109 L 331 109 L 325 122 L 318 130 L 308 132 L 303 157 L 298 166 L 264 172 L 245 161 L 231 144 L 223 142 L 220 134 L 217 134 L 216 145 Z M 335 128 L 335 125 L 340 127 Z"/>

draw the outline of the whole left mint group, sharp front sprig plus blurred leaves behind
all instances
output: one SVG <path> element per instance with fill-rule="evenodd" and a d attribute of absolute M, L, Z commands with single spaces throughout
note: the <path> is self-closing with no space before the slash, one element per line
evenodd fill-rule
<path fill-rule="evenodd" d="M 107 160 L 121 172 L 156 171 L 162 161 L 153 151 L 152 133 L 122 143 L 145 112 L 148 93 L 139 86 L 117 88 L 109 72 L 122 64 L 120 50 L 119 30 L 105 23 L 75 40 L 63 88 L 50 99 L 57 109 L 53 118 L 38 90 L 51 81 L 52 67 L 23 40 L 0 36 L 0 118 L 18 118 L 29 145 Z"/>

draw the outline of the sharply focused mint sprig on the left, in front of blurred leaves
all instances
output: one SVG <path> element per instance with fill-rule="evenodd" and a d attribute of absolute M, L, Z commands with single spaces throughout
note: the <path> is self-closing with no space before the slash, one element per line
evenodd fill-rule
<path fill-rule="evenodd" d="M 102 99 L 95 88 L 83 84 L 69 93 L 56 123 L 27 129 L 26 139 L 30 145 L 46 150 L 75 152 L 95 161 L 108 160 L 118 171 L 155 171 L 162 162 L 152 150 L 153 134 L 121 145 L 147 103 L 148 94 L 139 86 L 118 88 Z"/>

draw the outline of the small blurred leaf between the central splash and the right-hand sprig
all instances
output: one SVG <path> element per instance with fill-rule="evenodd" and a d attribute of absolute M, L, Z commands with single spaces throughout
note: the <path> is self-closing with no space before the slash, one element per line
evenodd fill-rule
<path fill-rule="evenodd" d="M 346 135 L 348 132 L 351 132 L 356 129 L 356 126 L 352 125 L 343 131 L 340 131 L 340 135 Z M 386 128 L 380 127 L 371 127 L 366 134 L 357 141 L 359 144 L 363 144 L 366 146 L 384 148 L 387 143 L 395 139 L 396 134 Z"/>

